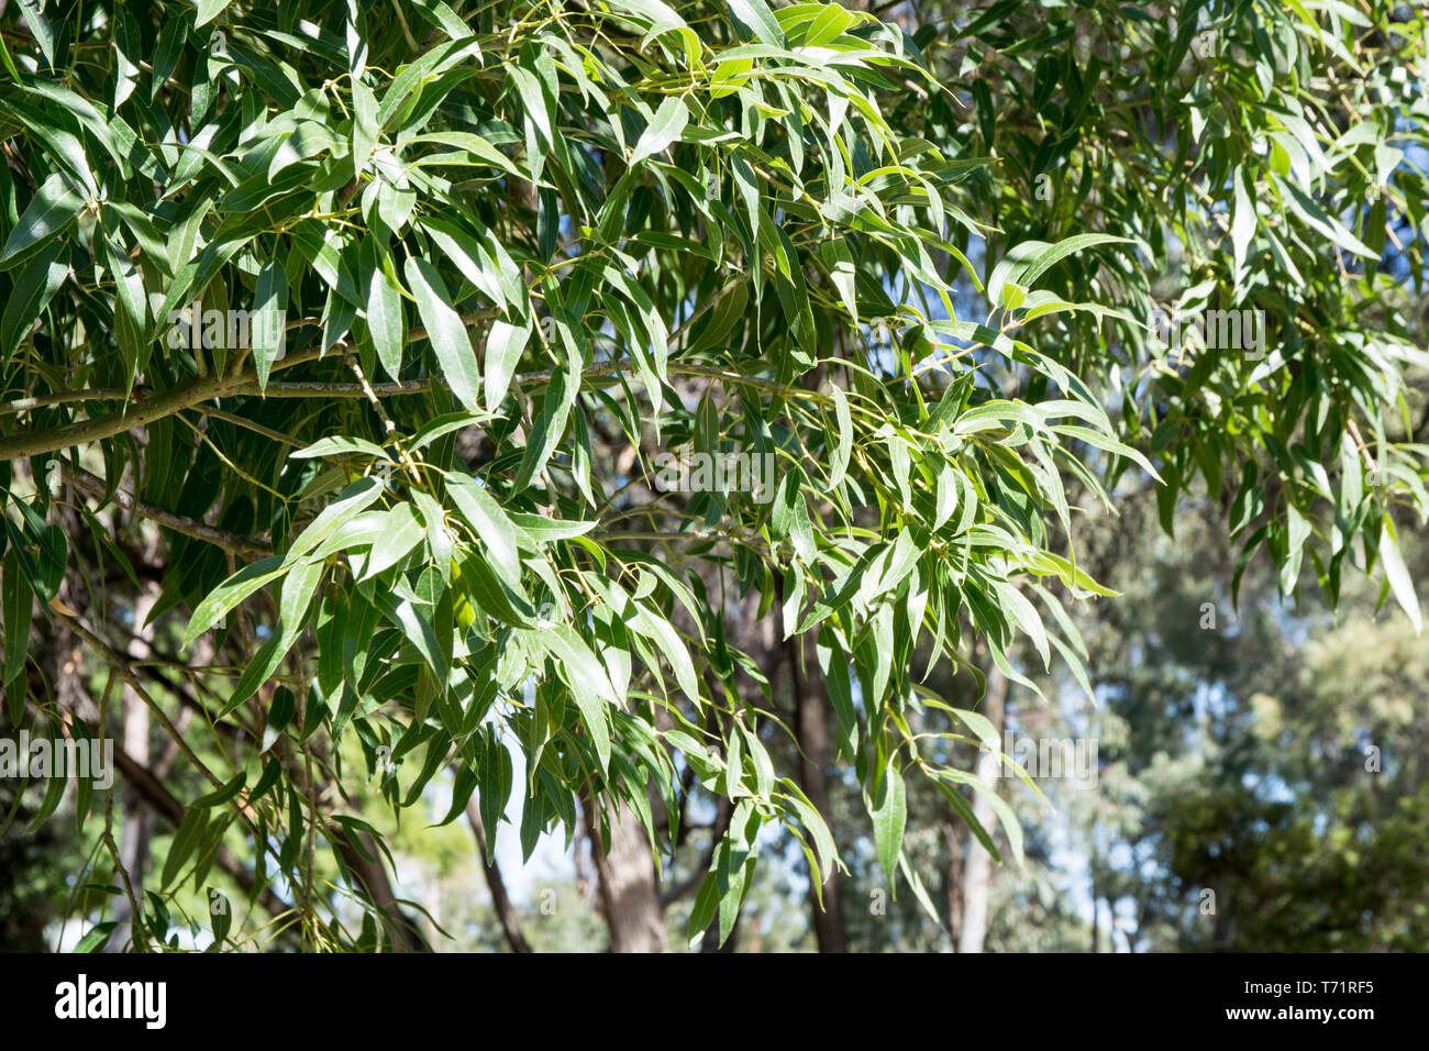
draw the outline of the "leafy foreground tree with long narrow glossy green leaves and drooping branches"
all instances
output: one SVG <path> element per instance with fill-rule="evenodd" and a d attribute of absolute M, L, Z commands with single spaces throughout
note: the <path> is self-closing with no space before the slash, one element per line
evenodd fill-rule
<path fill-rule="evenodd" d="M 1085 682 L 1073 520 L 1143 476 L 1418 628 L 1418 16 L 1126 10 L 6 10 L 0 679 L 11 728 L 161 732 L 119 758 L 157 875 L 107 815 L 94 874 L 134 944 L 217 871 L 254 941 L 420 948 L 364 775 L 450 774 L 527 854 L 586 829 L 612 941 L 659 947 L 702 802 L 692 938 L 765 829 L 837 901 L 839 764 L 942 922 L 909 784 L 1022 832 L 927 672 Z"/>

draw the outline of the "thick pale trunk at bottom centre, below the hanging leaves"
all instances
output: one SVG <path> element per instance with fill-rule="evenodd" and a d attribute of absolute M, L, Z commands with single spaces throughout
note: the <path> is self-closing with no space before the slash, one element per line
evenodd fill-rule
<path fill-rule="evenodd" d="M 664 952 L 664 911 L 656 882 L 654 855 L 640 819 L 624 804 L 607 805 L 610 849 L 602 847 L 600 806 L 586 801 L 590 852 L 596 861 L 600 911 L 610 931 L 612 952 Z"/>

